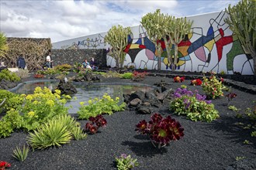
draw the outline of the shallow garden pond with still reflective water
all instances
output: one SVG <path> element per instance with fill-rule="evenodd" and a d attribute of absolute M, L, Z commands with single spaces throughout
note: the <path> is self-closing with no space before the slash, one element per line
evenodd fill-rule
<path fill-rule="evenodd" d="M 48 87 L 50 89 L 57 87 L 58 80 L 36 80 L 28 81 L 19 84 L 19 86 L 13 88 L 14 93 L 33 93 L 36 87 Z M 67 107 L 72 106 L 68 110 L 70 114 L 75 114 L 80 107 L 81 101 L 88 101 L 90 98 L 102 97 L 104 93 L 108 93 L 112 98 L 119 97 L 123 101 L 123 94 L 130 94 L 137 90 L 152 90 L 156 87 L 150 87 L 145 84 L 140 83 L 76 83 L 74 82 L 74 87 L 78 90 L 71 100 L 66 104 Z"/>

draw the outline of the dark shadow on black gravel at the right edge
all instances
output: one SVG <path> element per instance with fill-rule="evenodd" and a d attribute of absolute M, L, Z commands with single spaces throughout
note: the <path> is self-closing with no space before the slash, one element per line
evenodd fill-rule
<path fill-rule="evenodd" d="M 252 121 L 246 118 L 237 117 L 224 117 L 222 116 L 219 120 L 213 121 L 211 124 L 207 124 L 209 128 L 213 128 L 216 131 L 222 131 L 223 136 L 227 135 L 227 138 L 243 144 L 245 140 L 249 141 L 249 144 L 256 148 L 255 137 L 251 137 L 251 131 L 253 129 L 244 129 L 247 124 L 252 124 Z"/>

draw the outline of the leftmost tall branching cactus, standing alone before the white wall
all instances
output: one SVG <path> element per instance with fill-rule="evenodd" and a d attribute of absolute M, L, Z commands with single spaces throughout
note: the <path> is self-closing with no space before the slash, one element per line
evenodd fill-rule
<path fill-rule="evenodd" d="M 123 50 L 128 44 L 128 36 L 131 33 L 130 27 L 123 28 L 123 26 L 112 26 L 109 32 L 105 36 L 105 42 L 108 42 L 112 47 L 111 56 L 116 59 L 116 67 L 123 67 L 123 62 L 126 57 L 126 53 Z"/>

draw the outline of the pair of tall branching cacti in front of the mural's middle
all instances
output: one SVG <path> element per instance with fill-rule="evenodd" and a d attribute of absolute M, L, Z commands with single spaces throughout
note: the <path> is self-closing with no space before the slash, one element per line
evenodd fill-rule
<path fill-rule="evenodd" d="M 178 18 L 175 19 L 174 16 L 161 14 L 160 9 L 157 9 L 154 14 L 148 13 L 141 20 L 141 25 L 147 29 L 147 35 L 157 49 L 157 56 L 160 60 L 158 63 L 161 63 L 161 44 L 157 43 L 157 40 L 164 39 L 164 44 L 168 54 L 168 63 L 177 64 L 178 60 L 178 43 L 185 38 L 186 34 L 190 33 L 192 22 L 187 21 L 186 19 Z M 175 45 L 175 61 L 171 59 L 171 47 Z M 173 66 L 173 65 L 172 65 Z M 160 69 L 160 65 L 158 65 Z M 175 67 L 173 66 L 174 70 Z"/>

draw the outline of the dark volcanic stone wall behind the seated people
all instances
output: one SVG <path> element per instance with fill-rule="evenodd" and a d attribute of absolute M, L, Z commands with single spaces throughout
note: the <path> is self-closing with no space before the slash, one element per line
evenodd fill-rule
<path fill-rule="evenodd" d="M 83 63 L 93 57 L 97 66 L 106 68 L 106 49 L 51 49 L 51 59 L 54 60 L 53 66 L 61 64 Z"/>

